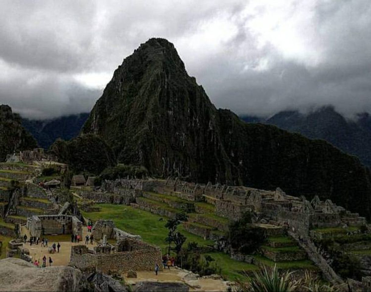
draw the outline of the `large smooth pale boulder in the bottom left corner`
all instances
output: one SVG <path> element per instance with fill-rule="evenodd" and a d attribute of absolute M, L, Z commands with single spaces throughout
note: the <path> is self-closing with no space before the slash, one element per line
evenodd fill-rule
<path fill-rule="evenodd" d="M 73 267 L 39 268 L 21 259 L 0 260 L 0 291 L 79 291 L 81 272 Z"/>

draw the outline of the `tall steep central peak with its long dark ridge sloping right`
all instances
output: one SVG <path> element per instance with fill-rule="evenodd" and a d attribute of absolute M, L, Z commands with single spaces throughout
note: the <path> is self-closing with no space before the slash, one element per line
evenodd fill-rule
<path fill-rule="evenodd" d="M 323 140 L 246 124 L 216 109 L 173 44 L 150 39 L 125 58 L 82 133 L 102 136 L 119 162 L 180 176 L 288 194 L 318 194 L 370 218 L 371 175 Z"/>

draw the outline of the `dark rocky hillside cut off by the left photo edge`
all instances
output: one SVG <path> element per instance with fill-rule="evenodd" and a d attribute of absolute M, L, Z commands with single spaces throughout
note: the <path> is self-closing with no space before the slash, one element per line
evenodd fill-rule
<path fill-rule="evenodd" d="M 20 116 L 9 106 L 0 105 L 0 162 L 7 154 L 35 147 L 36 140 L 23 128 Z"/>

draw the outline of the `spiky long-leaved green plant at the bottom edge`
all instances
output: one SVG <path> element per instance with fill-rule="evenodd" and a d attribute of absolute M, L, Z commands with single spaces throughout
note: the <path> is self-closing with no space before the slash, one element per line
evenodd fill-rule
<path fill-rule="evenodd" d="M 273 268 L 262 266 L 250 281 L 237 282 L 237 289 L 240 291 L 252 292 L 291 292 L 298 288 L 299 282 L 292 277 L 294 272 L 284 272 L 280 275 L 277 266 Z"/>

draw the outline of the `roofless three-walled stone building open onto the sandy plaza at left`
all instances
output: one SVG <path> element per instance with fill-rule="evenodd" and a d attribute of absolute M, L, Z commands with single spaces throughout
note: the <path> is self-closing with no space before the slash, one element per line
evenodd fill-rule
<path fill-rule="evenodd" d="M 33 215 L 27 218 L 27 229 L 31 236 L 48 234 L 77 234 L 82 240 L 82 222 L 72 215 Z"/>

